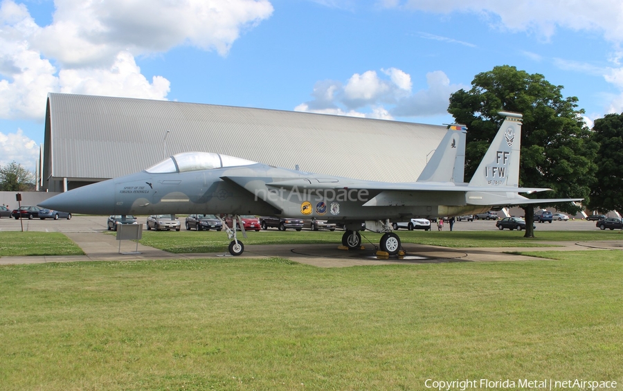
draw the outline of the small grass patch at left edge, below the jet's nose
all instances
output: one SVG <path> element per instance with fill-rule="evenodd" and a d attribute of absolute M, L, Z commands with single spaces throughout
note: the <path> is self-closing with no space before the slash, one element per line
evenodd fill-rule
<path fill-rule="evenodd" d="M 24 255 L 84 255 L 84 252 L 62 233 L 0 233 L 0 257 Z"/>

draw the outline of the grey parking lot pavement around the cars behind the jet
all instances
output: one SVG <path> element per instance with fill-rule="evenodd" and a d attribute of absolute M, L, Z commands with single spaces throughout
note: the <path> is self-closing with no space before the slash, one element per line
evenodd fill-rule
<path fill-rule="evenodd" d="M 185 217 L 181 217 L 182 221 Z M 138 217 L 138 222 L 145 224 L 147 217 Z M 103 232 L 106 228 L 107 216 L 73 216 L 71 220 L 41 220 L 41 219 L 24 219 L 24 231 L 38 232 L 62 232 L 62 233 L 94 233 Z M 575 220 L 575 221 L 553 221 L 552 223 L 535 223 L 536 230 L 596 230 L 595 221 Z M 182 228 L 183 229 L 183 228 Z M 434 223 L 431 229 L 437 230 Z M 496 222 L 492 220 L 477 221 L 457 221 L 454 224 L 454 230 L 496 230 Z M 6 217 L 0 219 L 0 232 L 21 230 L 19 220 L 8 219 Z M 444 230 L 450 230 L 448 223 L 444 224 Z M 400 229 L 397 233 L 405 231 Z M 262 232 L 262 231 L 260 231 Z"/>

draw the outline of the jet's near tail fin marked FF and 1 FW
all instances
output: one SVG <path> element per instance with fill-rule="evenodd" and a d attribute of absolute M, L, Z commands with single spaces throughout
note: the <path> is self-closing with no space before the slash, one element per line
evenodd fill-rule
<path fill-rule="evenodd" d="M 521 144 L 521 114 L 500 111 L 506 116 L 498 134 L 482 158 L 469 185 L 519 186 L 519 148 Z"/>

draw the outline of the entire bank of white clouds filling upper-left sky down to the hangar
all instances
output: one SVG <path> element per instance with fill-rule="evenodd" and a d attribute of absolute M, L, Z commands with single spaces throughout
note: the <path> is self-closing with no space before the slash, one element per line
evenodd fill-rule
<path fill-rule="evenodd" d="M 42 120 L 48 92 L 165 99 L 135 55 L 192 45 L 226 55 L 273 11 L 268 0 L 55 0 L 50 26 L 24 5 L 0 3 L 0 118 Z M 55 64 L 56 66 L 54 66 Z"/>

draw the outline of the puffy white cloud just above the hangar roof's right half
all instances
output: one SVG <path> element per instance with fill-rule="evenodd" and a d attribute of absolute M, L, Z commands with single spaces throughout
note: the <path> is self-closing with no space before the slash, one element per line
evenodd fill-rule
<path fill-rule="evenodd" d="M 380 78 L 376 71 L 366 71 L 352 75 L 344 87 L 332 80 L 318 82 L 311 94 L 314 100 L 294 110 L 379 119 L 439 116 L 447 114 L 450 94 L 466 88 L 451 84 L 445 73 L 435 71 L 426 75 L 428 88 L 413 94 L 408 73 L 396 68 L 381 72 L 390 80 Z"/>

